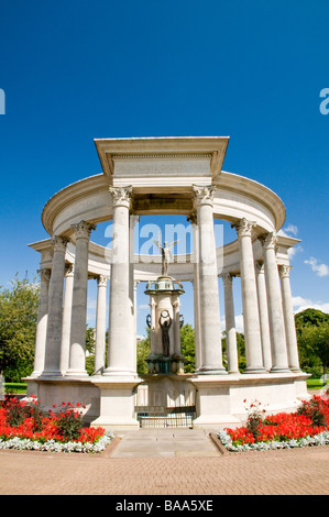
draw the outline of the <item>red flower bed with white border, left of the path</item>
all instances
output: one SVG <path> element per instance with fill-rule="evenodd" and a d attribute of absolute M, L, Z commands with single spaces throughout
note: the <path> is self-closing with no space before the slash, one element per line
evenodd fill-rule
<path fill-rule="evenodd" d="M 11 398 L 0 407 L 0 449 L 100 452 L 113 438 L 102 428 L 83 426 L 85 406 L 62 403 L 45 414 L 36 398 Z"/>

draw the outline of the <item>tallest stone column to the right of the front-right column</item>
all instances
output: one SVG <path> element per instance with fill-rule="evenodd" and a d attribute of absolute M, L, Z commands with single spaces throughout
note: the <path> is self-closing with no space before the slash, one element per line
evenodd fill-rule
<path fill-rule="evenodd" d="M 245 218 L 243 218 L 237 224 L 231 226 L 237 229 L 240 251 L 240 272 L 246 362 L 244 373 L 265 373 L 262 356 L 259 301 L 251 240 L 252 228 L 255 226 L 255 223 L 248 221 Z"/>

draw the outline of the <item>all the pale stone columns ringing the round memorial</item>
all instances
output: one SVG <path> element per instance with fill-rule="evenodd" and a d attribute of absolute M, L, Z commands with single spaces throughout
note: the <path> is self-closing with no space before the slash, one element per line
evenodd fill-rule
<path fill-rule="evenodd" d="M 105 365 L 106 292 L 108 278 L 98 277 L 95 373 L 102 376 L 136 376 L 133 264 L 130 264 L 129 216 L 131 187 L 110 187 L 113 217 L 109 349 Z M 215 187 L 194 187 L 195 260 L 194 301 L 196 365 L 199 375 L 238 373 L 233 277 L 221 274 L 224 289 L 228 371 L 221 350 L 217 255 L 213 234 Z M 241 295 L 246 367 L 244 373 L 300 372 L 298 364 L 290 266 L 277 265 L 274 233 L 259 235 L 262 260 L 254 260 L 254 223 L 245 218 L 232 223 L 239 241 Z M 41 294 L 32 377 L 85 377 L 88 245 L 96 227 L 74 224 L 75 263 L 65 264 L 68 239 L 53 238 L 52 271 L 41 271 Z M 114 253 L 116 251 L 116 253 Z"/>

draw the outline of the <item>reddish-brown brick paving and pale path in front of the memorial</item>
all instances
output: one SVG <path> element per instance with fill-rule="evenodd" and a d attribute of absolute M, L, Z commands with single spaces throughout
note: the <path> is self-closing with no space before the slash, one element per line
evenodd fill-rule
<path fill-rule="evenodd" d="M 221 454 L 199 432 L 136 432 L 123 435 L 117 448 L 113 443 L 100 454 L 0 450 L 0 494 L 211 496 L 329 492 L 329 446 Z"/>

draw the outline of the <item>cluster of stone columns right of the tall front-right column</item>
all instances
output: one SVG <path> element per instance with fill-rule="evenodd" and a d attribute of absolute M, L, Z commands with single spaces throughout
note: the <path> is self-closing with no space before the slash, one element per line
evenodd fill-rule
<path fill-rule="evenodd" d="M 268 233 L 260 240 L 263 261 L 253 260 L 251 232 L 244 219 L 237 224 L 239 235 L 242 308 L 246 367 L 244 373 L 299 373 L 299 359 L 289 280 L 292 266 L 277 265 L 275 238 Z M 248 245 L 242 241 L 249 239 Z M 268 244 L 271 242 L 271 244 Z M 244 245 L 243 245 L 244 244 Z M 265 248 L 268 246 L 268 248 Z M 237 332 L 234 323 L 233 278 L 221 275 L 224 289 L 227 359 L 229 373 L 238 373 Z"/>

